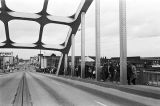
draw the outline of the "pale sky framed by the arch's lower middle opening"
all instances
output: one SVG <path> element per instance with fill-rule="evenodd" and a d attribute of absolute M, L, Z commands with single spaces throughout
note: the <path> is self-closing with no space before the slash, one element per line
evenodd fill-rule
<path fill-rule="evenodd" d="M 9 22 L 10 38 L 17 43 L 35 43 L 38 40 L 39 29 L 39 24 L 32 21 Z"/>

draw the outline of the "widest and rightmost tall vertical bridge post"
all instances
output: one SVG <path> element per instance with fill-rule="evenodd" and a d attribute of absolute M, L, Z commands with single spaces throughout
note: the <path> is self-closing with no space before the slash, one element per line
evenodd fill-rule
<path fill-rule="evenodd" d="M 120 83 L 127 84 L 126 0 L 119 0 Z"/>

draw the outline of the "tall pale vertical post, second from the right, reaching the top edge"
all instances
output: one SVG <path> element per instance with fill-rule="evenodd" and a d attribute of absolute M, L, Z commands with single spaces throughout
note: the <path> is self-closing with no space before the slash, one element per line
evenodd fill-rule
<path fill-rule="evenodd" d="M 100 0 L 95 0 L 96 80 L 100 80 Z"/>

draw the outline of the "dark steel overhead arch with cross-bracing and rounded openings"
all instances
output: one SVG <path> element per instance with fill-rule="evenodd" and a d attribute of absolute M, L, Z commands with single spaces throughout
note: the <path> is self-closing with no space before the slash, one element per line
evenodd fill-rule
<path fill-rule="evenodd" d="M 5 0 L 1 0 L 0 20 L 4 23 L 6 40 L 0 43 L 0 48 L 19 48 L 19 49 L 44 49 L 55 50 L 62 53 L 68 53 L 71 46 L 71 35 L 76 34 L 81 23 L 81 13 L 86 12 L 93 0 L 82 0 L 76 13 L 69 17 L 53 16 L 47 13 L 48 0 L 44 0 L 43 8 L 39 13 L 22 13 L 9 9 Z M 40 24 L 39 37 L 33 44 L 20 44 L 12 41 L 9 34 L 8 23 L 11 20 L 27 20 Z M 53 23 L 67 25 L 70 27 L 67 38 L 62 44 L 48 47 L 42 42 L 44 26 Z M 53 35 L 54 36 L 54 35 Z"/>

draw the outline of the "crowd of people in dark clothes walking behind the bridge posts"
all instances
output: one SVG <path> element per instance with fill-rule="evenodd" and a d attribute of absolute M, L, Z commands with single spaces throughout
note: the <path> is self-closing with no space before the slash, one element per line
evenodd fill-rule
<path fill-rule="evenodd" d="M 68 67 L 67 75 L 71 75 L 71 68 Z M 75 66 L 74 76 L 81 77 L 81 66 Z M 85 65 L 85 78 L 95 79 L 96 71 L 95 65 Z M 101 66 L 100 70 L 101 81 L 110 81 L 118 83 L 120 81 L 120 65 L 119 63 L 106 63 Z M 136 66 L 135 64 L 127 64 L 127 80 L 128 85 L 135 85 L 137 78 Z"/>

